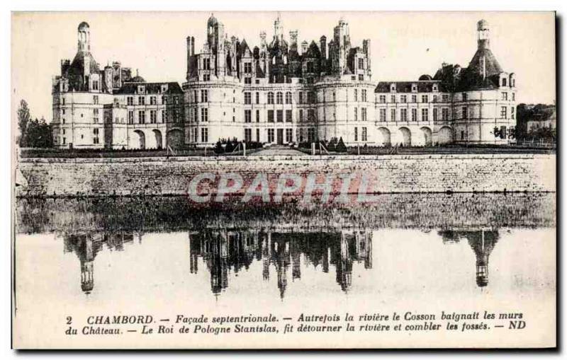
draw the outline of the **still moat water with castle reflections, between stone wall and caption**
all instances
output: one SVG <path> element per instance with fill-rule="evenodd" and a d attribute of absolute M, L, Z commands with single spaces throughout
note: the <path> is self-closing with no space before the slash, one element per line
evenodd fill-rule
<path fill-rule="evenodd" d="M 535 301 L 555 294 L 555 216 L 555 194 L 539 193 L 340 207 L 18 199 L 16 307 Z"/>

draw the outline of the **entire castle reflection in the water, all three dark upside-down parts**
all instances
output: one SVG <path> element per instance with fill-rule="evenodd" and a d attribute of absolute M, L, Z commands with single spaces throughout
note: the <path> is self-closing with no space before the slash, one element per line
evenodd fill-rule
<path fill-rule="evenodd" d="M 488 285 L 488 258 L 498 242 L 498 231 L 439 231 L 444 243 L 459 242 L 466 238 L 476 255 L 476 284 Z M 133 243 L 141 236 L 133 232 L 65 234 L 64 252 L 74 252 L 81 263 L 81 289 L 90 294 L 94 289 L 94 259 L 106 250 L 125 250 L 125 244 Z M 262 277 L 270 279 L 275 269 L 281 298 L 291 279 L 301 279 L 301 262 L 313 265 L 329 273 L 335 268 L 335 281 L 342 291 L 352 285 L 354 262 L 372 268 L 372 231 L 334 231 L 318 233 L 286 233 L 267 231 L 232 231 L 207 229 L 189 233 L 189 268 L 198 272 L 198 260 L 202 258 L 210 273 L 210 289 L 218 295 L 228 288 L 230 272 L 237 274 L 247 270 L 252 262 L 262 262 Z M 303 259 L 303 260 L 302 260 Z"/>

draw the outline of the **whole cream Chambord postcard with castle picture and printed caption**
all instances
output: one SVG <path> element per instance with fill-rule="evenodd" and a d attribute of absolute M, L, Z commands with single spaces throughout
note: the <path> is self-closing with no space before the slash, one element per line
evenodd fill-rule
<path fill-rule="evenodd" d="M 16 349 L 556 347 L 552 12 L 15 12 Z"/>

